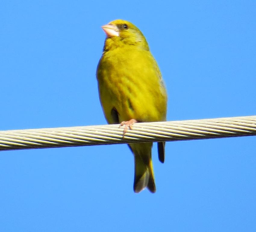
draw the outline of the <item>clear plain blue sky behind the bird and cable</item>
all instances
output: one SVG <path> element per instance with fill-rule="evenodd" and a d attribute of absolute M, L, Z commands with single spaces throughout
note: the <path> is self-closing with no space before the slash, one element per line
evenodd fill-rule
<path fill-rule="evenodd" d="M 168 2 L 168 3 L 167 3 Z M 255 1 L 2 1 L 0 130 L 106 124 L 101 25 L 133 22 L 167 120 L 256 114 Z M 133 192 L 127 145 L 0 152 L 0 231 L 255 231 L 255 137 L 153 148 L 157 192 Z"/>

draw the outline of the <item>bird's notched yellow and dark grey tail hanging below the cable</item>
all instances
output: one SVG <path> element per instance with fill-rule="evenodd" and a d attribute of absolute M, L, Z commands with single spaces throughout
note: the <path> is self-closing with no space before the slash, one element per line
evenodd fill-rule
<path fill-rule="evenodd" d="M 152 143 L 132 143 L 129 147 L 134 154 L 133 190 L 139 193 L 144 188 L 152 193 L 156 191 L 153 164 L 151 159 Z"/>

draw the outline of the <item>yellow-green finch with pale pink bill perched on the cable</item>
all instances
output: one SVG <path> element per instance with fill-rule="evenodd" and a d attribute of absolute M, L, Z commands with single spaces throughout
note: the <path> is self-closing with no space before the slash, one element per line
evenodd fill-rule
<path fill-rule="evenodd" d="M 101 27 L 106 34 L 96 77 L 101 107 L 108 124 L 166 121 L 167 91 L 155 58 L 142 32 L 129 21 L 117 19 Z M 135 193 L 156 192 L 151 158 L 152 142 L 129 143 L 134 155 Z M 164 163 L 165 142 L 158 142 Z"/>

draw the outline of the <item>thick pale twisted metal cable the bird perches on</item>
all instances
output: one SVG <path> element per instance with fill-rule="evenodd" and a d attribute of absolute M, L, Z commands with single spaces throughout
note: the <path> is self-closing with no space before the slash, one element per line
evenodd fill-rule
<path fill-rule="evenodd" d="M 76 147 L 115 143 L 157 142 L 256 135 L 256 115 L 119 125 L 57 127 L 0 131 L 0 150 Z"/>

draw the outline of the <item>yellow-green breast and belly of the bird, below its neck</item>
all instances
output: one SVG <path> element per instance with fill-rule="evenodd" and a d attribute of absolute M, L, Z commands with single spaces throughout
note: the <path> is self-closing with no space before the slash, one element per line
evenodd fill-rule
<path fill-rule="evenodd" d="M 166 93 L 151 56 L 147 51 L 125 50 L 109 51 L 102 56 L 97 77 L 105 112 L 114 107 L 120 121 L 165 119 Z"/>

